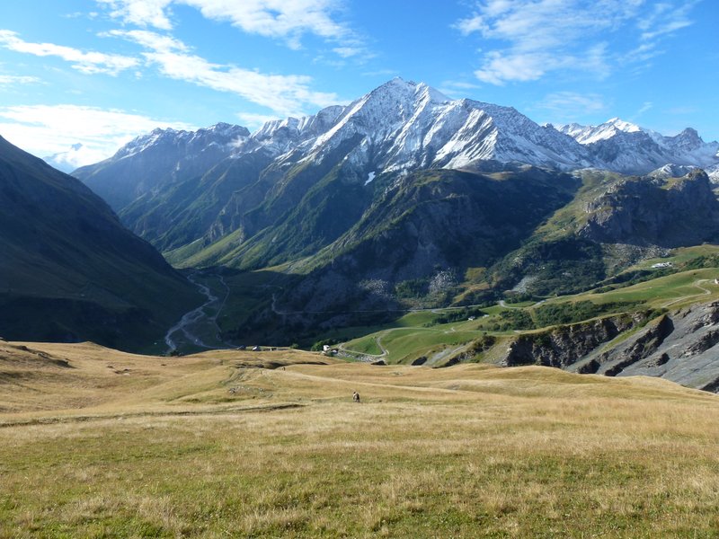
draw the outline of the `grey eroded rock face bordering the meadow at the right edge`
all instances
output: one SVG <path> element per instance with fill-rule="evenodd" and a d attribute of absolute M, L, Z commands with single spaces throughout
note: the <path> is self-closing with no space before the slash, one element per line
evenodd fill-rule
<path fill-rule="evenodd" d="M 719 393 L 719 302 L 663 314 L 612 345 L 621 331 L 645 321 L 642 315 L 624 315 L 522 335 L 510 345 L 502 364 L 538 364 L 605 376 L 657 376 Z"/>

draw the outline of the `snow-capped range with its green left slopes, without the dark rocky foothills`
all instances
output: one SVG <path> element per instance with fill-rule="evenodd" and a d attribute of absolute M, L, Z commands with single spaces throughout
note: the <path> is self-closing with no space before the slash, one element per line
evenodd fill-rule
<path fill-rule="evenodd" d="M 222 240 L 223 256 L 249 267 L 328 244 L 417 171 L 518 171 L 517 163 L 560 172 L 644 174 L 667 164 L 711 171 L 717 150 L 690 128 L 664 137 L 620 119 L 539 126 L 513 108 L 451 100 L 395 78 L 349 105 L 272 120 L 253 133 L 229 124 L 155 129 L 74 174 L 173 261 L 206 249 L 217 257 L 209 246 Z M 332 225 L 318 232 L 320 221 Z"/>

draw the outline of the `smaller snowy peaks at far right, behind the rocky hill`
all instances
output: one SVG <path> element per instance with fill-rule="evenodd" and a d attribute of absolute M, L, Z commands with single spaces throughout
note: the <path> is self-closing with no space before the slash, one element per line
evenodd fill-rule
<path fill-rule="evenodd" d="M 693 128 L 664 137 L 622 119 L 599 126 L 573 123 L 557 128 L 590 151 L 594 166 L 623 173 L 647 173 L 665 164 L 710 168 L 719 163 L 719 143 L 705 143 Z"/>

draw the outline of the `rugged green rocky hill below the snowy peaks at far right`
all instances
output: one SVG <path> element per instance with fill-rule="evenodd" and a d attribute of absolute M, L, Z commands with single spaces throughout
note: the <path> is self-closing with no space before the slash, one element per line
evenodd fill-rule
<path fill-rule="evenodd" d="M 699 169 L 680 178 L 575 174 L 572 201 L 493 267 L 503 289 L 572 294 L 670 248 L 719 241 L 719 200 Z"/>

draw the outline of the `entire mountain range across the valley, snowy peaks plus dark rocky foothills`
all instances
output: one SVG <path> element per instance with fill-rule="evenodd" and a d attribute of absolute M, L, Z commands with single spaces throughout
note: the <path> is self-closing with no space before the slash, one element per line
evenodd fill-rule
<path fill-rule="evenodd" d="M 717 151 L 693 129 L 539 126 L 393 79 L 253 133 L 156 129 L 74 175 L 177 266 L 296 276 L 272 293 L 278 315 L 466 303 L 519 283 L 564 293 L 713 240 L 716 197 L 694 167 L 713 170 Z"/>

